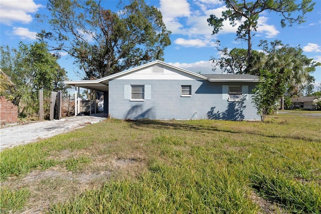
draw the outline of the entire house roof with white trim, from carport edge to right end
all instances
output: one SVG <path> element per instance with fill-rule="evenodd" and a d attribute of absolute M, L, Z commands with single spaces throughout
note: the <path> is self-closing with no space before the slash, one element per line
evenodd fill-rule
<path fill-rule="evenodd" d="M 125 76 L 127 74 L 139 71 L 141 69 L 154 66 L 154 65 L 163 65 L 167 66 L 169 68 L 181 71 L 183 73 L 195 76 L 196 78 L 208 80 L 210 82 L 258 82 L 259 78 L 257 76 L 248 75 L 248 74 L 197 74 L 173 65 L 170 65 L 168 63 L 165 63 L 163 61 L 153 61 L 150 63 L 146 63 L 141 66 L 137 66 L 135 68 L 128 69 L 126 71 L 118 72 L 116 74 L 109 75 L 107 77 L 103 77 L 97 80 L 79 80 L 79 81 L 64 81 L 67 85 L 77 86 L 81 88 L 87 88 L 87 89 L 93 89 L 101 92 L 107 92 L 108 91 L 108 83 L 111 79 L 116 79 L 122 76 Z"/>

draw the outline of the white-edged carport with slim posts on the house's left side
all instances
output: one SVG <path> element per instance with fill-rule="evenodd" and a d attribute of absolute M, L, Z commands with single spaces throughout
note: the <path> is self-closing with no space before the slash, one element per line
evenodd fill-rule
<path fill-rule="evenodd" d="M 64 81 L 64 84 L 72 85 L 75 87 L 75 115 L 80 113 L 80 99 L 79 99 L 79 91 L 80 88 L 89 89 L 90 93 L 92 90 L 104 93 L 104 110 L 105 114 L 108 114 L 108 82 L 109 79 L 102 78 L 98 80 L 80 80 L 80 81 Z M 96 103 L 96 102 L 95 102 Z M 91 97 L 90 97 L 90 105 L 91 105 Z M 96 108 L 95 108 L 96 111 Z M 96 113 L 96 112 L 94 112 Z M 90 114 L 91 106 L 90 106 Z"/>

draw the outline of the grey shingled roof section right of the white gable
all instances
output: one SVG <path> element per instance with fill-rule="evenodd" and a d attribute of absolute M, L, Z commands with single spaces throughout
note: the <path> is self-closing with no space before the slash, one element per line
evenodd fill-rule
<path fill-rule="evenodd" d="M 258 82 L 259 77 L 250 74 L 202 74 L 210 82 Z"/>

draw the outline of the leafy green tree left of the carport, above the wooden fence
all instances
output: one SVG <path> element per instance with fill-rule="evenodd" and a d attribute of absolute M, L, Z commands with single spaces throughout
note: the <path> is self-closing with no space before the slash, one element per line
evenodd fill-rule
<path fill-rule="evenodd" d="M 49 97 L 52 90 L 66 90 L 63 85 L 66 71 L 49 53 L 46 44 L 20 43 L 18 49 L 1 46 L 1 54 L 0 67 L 16 86 L 12 95 L 21 115 L 32 116 L 38 112 L 39 90 L 44 90 L 45 97 Z"/>

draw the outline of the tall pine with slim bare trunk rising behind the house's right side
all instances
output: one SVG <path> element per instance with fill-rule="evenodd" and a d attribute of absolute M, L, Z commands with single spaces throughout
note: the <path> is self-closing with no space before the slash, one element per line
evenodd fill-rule
<path fill-rule="evenodd" d="M 292 26 L 294 23 L 301 24 L 305 22 L 304 15 L 311 12 L 315 3 L 311 0 L 256 0 L 256 1 L 238 1 L 238 0 L 221 0 L 227 10 L 222 12 L 222 18 L 210 15 L 207 20 L 209 26 L 213 27 L 213 35 L 222 30 L 223 22 L 229 20 L 230 25 L 236 26 L 238 22 L 242 24 L 238 27 L 236 38 L 245 40 L 248 45 L 247 49 L 247 70 L 252 69 L 252 32 L 257 31 L 257 21 L 263 12 L 278 13 L 282 16 L 281 27 Z M 295 4 L 298 2 L 299 4 Z M 295 15 L 298 14 L 296 17 Z"/>

